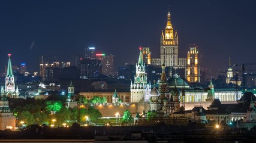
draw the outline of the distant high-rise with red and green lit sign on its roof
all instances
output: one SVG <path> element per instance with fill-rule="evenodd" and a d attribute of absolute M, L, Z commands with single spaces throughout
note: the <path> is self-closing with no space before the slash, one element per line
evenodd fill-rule
<path fill-rule="evenodd" d="M 101 60 L 103 74 L 115 76 L 114 55 L 96 54 L 96 58 Z"/>

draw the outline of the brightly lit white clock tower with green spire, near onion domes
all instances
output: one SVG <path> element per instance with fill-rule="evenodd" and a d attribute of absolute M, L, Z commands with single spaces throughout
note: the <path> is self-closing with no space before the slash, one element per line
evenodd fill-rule
<path fill-rule="evenodd" d="M 147 83 L 146 66 L 142 59 L 142 48 L 136 63 L 136 73 L 134 83 L 131 82 L 131 102 L 144 102 L 149 100 L 149 92 L 151 91 L 150 83 Z"/>

